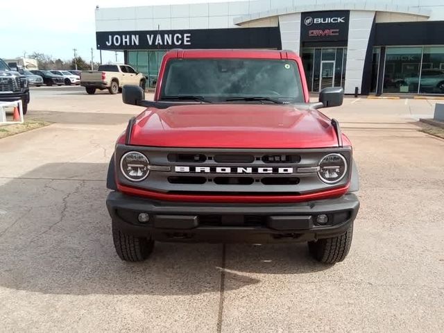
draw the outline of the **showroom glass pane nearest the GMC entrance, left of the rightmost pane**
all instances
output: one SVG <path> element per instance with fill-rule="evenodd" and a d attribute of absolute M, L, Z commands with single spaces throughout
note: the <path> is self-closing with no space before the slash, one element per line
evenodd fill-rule
<path fill-rule="evenodd" d="M 383 92 L 418 94 L 422 47 L 388 47 Z"/>

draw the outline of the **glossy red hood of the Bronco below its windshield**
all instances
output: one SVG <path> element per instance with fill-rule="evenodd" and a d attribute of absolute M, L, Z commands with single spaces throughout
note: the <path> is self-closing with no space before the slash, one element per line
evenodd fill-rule
<path fill-rule="evenodd" d="M 130 142 L 187 148 L 338 146 L 330 119 L 296 105 L 190 104 L 139 114 Z"/>

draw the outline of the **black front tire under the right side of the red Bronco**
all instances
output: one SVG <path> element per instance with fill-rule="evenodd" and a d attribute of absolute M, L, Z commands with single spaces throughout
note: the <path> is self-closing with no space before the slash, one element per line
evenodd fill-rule
<path fill-rule="evenodd" d="M 336 264 L 347 257 L 352 245 L 353 225 L 337 237 L 309 241 L 308 249 L 311 257 L 324 264 Z"/>

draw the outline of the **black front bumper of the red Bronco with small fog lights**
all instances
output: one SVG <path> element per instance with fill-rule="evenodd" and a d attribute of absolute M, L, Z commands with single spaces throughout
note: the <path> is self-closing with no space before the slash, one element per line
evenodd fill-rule
<path fill-rule="evenodd" d="M 112 223 L 127 234 L 158 241 L 313 241 L 343 234 L 359 210 L 355 194 L 294 204 L 171 203 L 112 191 L 106 200 Z M 140 213 L 149 214 L 141 223 Z M 328 216 L 320 225 L 316 218 Z"/>

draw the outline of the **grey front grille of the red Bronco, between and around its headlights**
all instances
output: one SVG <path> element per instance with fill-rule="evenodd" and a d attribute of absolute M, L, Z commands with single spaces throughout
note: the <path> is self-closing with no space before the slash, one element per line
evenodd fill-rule
<path fill-rule="evenodd" d="M 198 149 L 117 145 L 116 161 L 128 151 L 144 153 L 153 166 L 142 182 L 119 171 L 122 185 L 169 194 L 300 195 L 340 187 L 348 177 L 327 185 L 318 177 L 319 161 L 332 152 L 351 159 L 350 148 L 321 149 Z M 349 162 L 350 163 L 350 162 Z M 119 169 L 119 162 L 117 163 Z M 351 168 L 350 168 L 351 169 Z"/>

